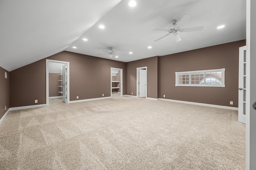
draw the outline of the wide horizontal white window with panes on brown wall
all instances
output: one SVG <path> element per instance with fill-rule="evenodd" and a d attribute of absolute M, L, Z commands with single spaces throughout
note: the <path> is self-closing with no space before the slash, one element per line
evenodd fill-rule
<path fill-rule="evenodd" d="M 225 69 L 175 72 L 175 86 L 225 87 Z"/>

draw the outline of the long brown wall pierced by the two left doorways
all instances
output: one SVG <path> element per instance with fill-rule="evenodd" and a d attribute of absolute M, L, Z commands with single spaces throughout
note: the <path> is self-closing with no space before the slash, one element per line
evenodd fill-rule
<path fill-rule="evenodd" d="M 126 63 L 63 51 L 48 57 L 70 62 L 70 101 L 110 97 L 111 67 L 124 69 Z M 10 72 L 10 106 L 46 104 L 46 59 Z M 79 99 L 76 99 L 79 96 Z"/>

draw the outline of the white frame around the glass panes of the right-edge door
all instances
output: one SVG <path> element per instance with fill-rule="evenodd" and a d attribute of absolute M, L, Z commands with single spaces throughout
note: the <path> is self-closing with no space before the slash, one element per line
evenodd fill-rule
<path fill-rule="evenodd" d="M 246 115 L 244 115 L 244 51 L 246 51 L 246 45 L 239 47 L 239 69 L 238 69 L 238 88 L 242 88 L 242 90 L 238 90 L 238 121 L 241 123 L 246 123 Z M 248 67 L 248 58 L 246 58 L 246 67 Z M 246 80 L 247 80 L 247 71 L 246 71 Z M 248 85 L 246 83 L 246 85 Z M 246 89 L 245 89 L 246 90 Z M 246 90 L 246 93 L 248 91 Z M 246 94 L 247 95 L 247 94 Z M 248 102 L 246 100 L 246 105 Z"/>

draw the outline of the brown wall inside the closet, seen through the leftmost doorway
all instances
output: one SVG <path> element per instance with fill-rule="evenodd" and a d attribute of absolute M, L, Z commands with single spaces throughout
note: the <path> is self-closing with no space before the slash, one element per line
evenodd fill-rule
<path fill-rule="evenodd" d="M 59 79 L 58 73 L 49 73 L 49 97 L 60 96 L 59 93 Z"/>

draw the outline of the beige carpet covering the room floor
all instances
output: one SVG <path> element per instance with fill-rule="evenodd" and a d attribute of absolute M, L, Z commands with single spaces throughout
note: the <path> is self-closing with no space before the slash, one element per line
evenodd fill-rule
<path fill-rule="evenodd" d="M 237 111 L 113 95 L 11 111 L 0 169 L 245 169 Z"/>

